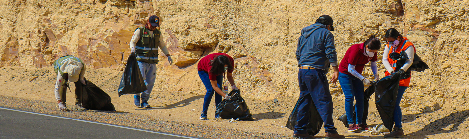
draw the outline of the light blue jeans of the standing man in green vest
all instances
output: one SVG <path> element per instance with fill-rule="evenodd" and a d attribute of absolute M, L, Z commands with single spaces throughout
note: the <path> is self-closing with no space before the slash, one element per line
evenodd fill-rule
<path fill-rule="evenodd" d="M 156 64 L 149 64 L 146 62 L 138 61 L 138 67 L 140 68 L 140 73 L 142 73 L 142 77 L 144 78 L 145 86 L 147 90 L 142 93 L 135 94 L 140 96 L 142 94 L 142 102 L 148 102 L 150 98 L 151 90 L 153 86 L 155 86 L 155 79 L 156 79 Z"/>

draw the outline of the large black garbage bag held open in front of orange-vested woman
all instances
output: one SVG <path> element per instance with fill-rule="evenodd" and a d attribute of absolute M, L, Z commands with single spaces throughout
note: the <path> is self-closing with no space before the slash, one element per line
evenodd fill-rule
<path fill-rule="evenodd" d="M 394 105 L 396 104 L 401 76 L 401 74 L 392 73 L 379 80 L 376 84 L 376 109 L 378 109 L 379 116 L 387 129 L 393 129 Z"/>

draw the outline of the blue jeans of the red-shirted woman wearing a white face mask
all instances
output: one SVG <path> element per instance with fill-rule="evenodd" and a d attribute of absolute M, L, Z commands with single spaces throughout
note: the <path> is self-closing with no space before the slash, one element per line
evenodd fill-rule
<path fill-rule="evenodd" d="M 348 124 L 362 124 L 363 123 L 363 109 L 364 109 L 364 90 L 363 81 L 353 75 L 339 73 L 339 83 L 345 95 L 345 113 L 347 114 Z M 355 96 L 356 104 L 356 123 L 353 119 L 353 99 Z M 366 122 L 366 121 L 365 121 Z"/>

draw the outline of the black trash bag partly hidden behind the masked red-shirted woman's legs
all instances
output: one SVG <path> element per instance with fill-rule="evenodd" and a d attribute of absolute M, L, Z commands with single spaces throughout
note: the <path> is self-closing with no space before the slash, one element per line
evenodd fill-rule
<path fill-rule="evenodd" d="M 365 101 L 363 103 L 364 107 L 363 107 L 363 116 L 362 116 L 362 122 L 363 122 L 362 124 L 364 124 L 364 125 L 368 125 L 368 124 L 366 124 L 366 119 L 368 118 L 368 106 L 370 105 L 369 101 L 370 101 L 371 95 L 373 95 L 373 93 L 375 93 L 376 83 L 377 82 L 378 81 L 371 82 L 371 86 L 369 86 L 364 92 Z M 353 110 L 354 123 L 356 123 L 355 104 L 353 104 L 352 110 Z M 340 116 L 337 119 L 342 121 L 342 123 L 345 125 L 345 127 L 348 128 L 348 120 L 347 120 L 347 114 L 346 113 L 344 113 L 342 116 Z"/>

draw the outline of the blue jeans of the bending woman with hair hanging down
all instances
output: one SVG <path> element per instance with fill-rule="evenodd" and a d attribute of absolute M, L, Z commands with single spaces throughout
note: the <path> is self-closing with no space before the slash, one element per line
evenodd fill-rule
<path fill-rule="evenodd" d="M 202 108 L 202 113 L 207 114 L 208 106 L 210 105 L 210 102 L 212 101 L 212 96 L 215 92 L 212 88 L 212 83 L 210 83 L 210 79 L 208 78 L 208 73 L 204 71 L 198 71 L 199 72 L 199 77 L 200 80 L 202 80 L 202 83 L 204 83 L 205 89 L 207 89 L 207 93 L 205 93 L 204 97 L 204 107 Z M 221 88 L 221 84 L 223 83 L 223 76 L 218 75 L 217 76 L 217 84 L 218 88 Z M 218 104 L 221 102 L 221 95 L 218 93 L 215 93 L 215 108 L 218 106 Z"/>

